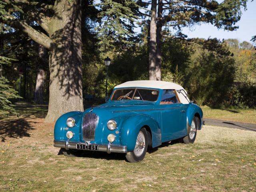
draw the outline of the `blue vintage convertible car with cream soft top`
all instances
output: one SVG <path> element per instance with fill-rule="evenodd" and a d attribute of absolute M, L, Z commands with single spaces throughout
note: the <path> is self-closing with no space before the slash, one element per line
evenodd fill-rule
<path fill-rule="evenodd" d="M 129 81 L 114 88 L 109 102 L 60 116 L 54 146 L 66 156 L 94 150 L 125 153 L 129 162 L 138 162 L 148 146 L 178 138 L 193 143 L 203 123 L 201 108 L 182 86 Z"/>

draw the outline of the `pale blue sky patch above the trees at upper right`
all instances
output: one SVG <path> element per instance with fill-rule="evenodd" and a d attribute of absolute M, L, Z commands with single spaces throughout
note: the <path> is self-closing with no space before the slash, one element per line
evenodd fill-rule
<path fill-rule="evenodd" d="M 201 24 L 199 26 L 194 26 L 192 31 L 189 28 L 184 28 L 182 32 L 188 36 L 188 38 L 218 38 L 228 39 L 236 38 L 242 41 L 248 41 L 252 39 L 252 36 L 256 35 L 256 0 L 247 3 L 247 10 L 242 11 L 242 16 L 237 26 L 239 28 L 235 31 L 228 31 L 223 29 L 218 29 L 211 24 Z M 252 42 L 251 42 L 252 43 Z"/>

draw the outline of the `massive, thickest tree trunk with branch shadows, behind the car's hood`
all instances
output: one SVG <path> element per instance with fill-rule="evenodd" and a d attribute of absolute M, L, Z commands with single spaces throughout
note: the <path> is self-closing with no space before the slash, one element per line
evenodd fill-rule
<path fill-rule="evenodd" d="M 50 50 L 50 96 L 45 122 L 69 111 L 83 111 L 80 0 L 55 1 Z"/>

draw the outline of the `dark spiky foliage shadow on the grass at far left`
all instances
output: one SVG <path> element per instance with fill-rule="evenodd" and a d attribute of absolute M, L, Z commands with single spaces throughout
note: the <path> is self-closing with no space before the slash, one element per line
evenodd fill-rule
<path fill-rule="evenodd" d="M 22 137 L 30 137 L 28 131 L 34 130 L 30 126 L 31 122 L 26 119 L 13 119 L 13 120 L 5 120 L 1 121 L 0 127 L 0 139 L 1 142 L 5 142 L 6 138 L 22 138 Z"/>

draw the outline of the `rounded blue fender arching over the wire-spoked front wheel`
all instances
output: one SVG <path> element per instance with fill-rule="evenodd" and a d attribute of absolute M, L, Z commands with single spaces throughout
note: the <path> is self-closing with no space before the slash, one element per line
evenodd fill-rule
<path fill-rule="evenodd" d="M 122 124 L 120 143 L 127 146 L 127 151 L 133 151 L 140 129 L 149 126 L 152 133 L 152 147 L 161 145 L 161 130 L 158 122 L 145 114 L 135 114 L 127 118 Z"/>

